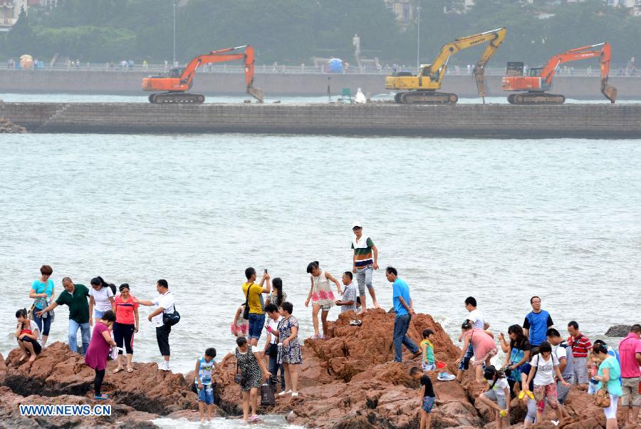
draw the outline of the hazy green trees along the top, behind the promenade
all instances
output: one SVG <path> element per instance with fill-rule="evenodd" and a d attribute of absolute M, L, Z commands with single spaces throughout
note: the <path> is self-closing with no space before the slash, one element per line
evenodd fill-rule
<path fill-rule="evenodd" d="M 422 7 L 421 62 L 461 36 L 508 28 L 490 66 L 505 61 L 544 63 L 554 53 L 601 41 L 613 45 L 615 62 L 640 56 L 641 17 L 603 0 L 568 4 L 479 0 L 467 13 L 463 0 L 417 0 Z M 81 61 L 132 58 L 160 63 L 172 58 L 172 16 L 178 0 L 58 0 L 52 9 L 34 8 L 31 24 L 21 16 L 0 44 L 0 54 L 32 53 Z M 361 38 L 362 55 L 382 63 L 415 64 L 417 23 L 397 23 L 383 0 L 189 0 L 176 7 L 177 60 L 251 44 L 257 62 L 311 63 L 313 56 L 355 62 L 352 38 Z M 538 14 L 553 14 L 539 19 Z M 462 51 L 452 66 L 474 63 L 481 48 Z"/>

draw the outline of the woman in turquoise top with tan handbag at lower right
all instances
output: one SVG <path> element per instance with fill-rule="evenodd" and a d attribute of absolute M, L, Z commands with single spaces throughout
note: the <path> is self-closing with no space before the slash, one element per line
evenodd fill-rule
<path fill-rule="evenodd" d="M 610 396 L 610 406 L 603 408 L 605 428 L 617 428 L 617 403 L 623 391 L 621 388 L 621 367 L 617 358 L 608 353 L 608 347 L 595 341 L 592 356 L 599 362 L 599 371 L 594 377 L 598 382 L 597 391 L 605 388 Z M 638 389 L 638 385 L 637 385 Z"/>

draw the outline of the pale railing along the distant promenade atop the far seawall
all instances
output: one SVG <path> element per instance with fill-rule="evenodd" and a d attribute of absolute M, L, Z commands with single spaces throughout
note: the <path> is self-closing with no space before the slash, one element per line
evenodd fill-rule
<path fill-rule="evenodd" d="M 171 66 L 167 64 L 134 64 L 132 66 L 115 63 L 80 63 L 76 65 L 73 63 L 63 64 L 56 63 L 53 66 L 38 62 L 36 68 L 21 69 L 17 64 L 10 64 L 5 62 L 4 69 L 15 70 L 21 72 L 40 72 L 40 71 L 107 71 L 113 73 L 167 73 Z M 3 67 L 0 67 L 2 70 Z M 330 72 L 327 68 L 313 67 L 313 66 L 281 66 L 281 65 L 258 65 L 256 66 L 256 73 L 258 74 L 326 74 L 328 76 L 348 74 L 348 75 L 390 75 L 393 70 L 391 67 L 382 67 L 376 69 L 373 67 L 358 68 L 358 66 L 350 66 L 340 72 Z M 400 71 L 414 71 L 413 68 L 400 67 Z M 244 73 L 245 68 L 237 64 L 206 64 L 198 69 L 198 73 Z M 447 69 L 447 74 L 453 76 L 471 75 L 471 68 L 452 66 Z M 599 68 L 560 68 L 557 71 L 558 76 L 599 76 Z M 488 67 L 485 69 L 486 76 L 504 76 L 504 67 Z M 615 65 L 611 67 L 610 76 L 641 76 L 641 71 L 636 68 L 627 68 L 625 65 Z"/>

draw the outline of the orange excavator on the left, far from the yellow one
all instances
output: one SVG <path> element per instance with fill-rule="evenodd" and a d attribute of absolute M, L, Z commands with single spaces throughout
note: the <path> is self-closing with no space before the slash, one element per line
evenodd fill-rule
<path fill-rule="evenodd" d="M 231 51 L 242 48 L 245 48 L 243 53 L 231 53 Z M 235 60 L 242 60 L 244 63 L 247 93 L 256 98 L 259 103 L 262 103 L 263 91 L 254 87 L 254 48 L 249 45 L 204 53 L 189 61 L 187 67 L 172 67 L 169 76 L 149 76 L 144 78 L 142 79 L 142 91 L 167 91 L 150 95 L 150 103 L 201 104 L 204 103 L 204 95 L 187 93 L 192 88 L 194 74 L 196 74 L 199 66 Z"/>

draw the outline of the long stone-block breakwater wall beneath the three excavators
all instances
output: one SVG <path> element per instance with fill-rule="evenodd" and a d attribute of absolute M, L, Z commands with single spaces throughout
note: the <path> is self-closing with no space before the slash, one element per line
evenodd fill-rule
<path fill-rule="evenodd" d="M 641 138 L 641 104 L 0 103 L 0 117 L 31 133 Z"/>

